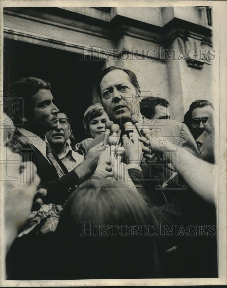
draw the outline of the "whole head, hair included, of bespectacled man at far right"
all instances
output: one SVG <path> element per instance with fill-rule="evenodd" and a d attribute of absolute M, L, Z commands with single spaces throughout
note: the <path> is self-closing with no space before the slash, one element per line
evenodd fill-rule
<path fill-rule="evenodd" d="M 184 122 L 196 140 L 205 129 L 205 123 L 213 113 L 214 107 L 207 100 L 196 100 L 192 102 L 189 110 L 184 115 Z M 197 143 L 200 147 L 200 143 Z"/>

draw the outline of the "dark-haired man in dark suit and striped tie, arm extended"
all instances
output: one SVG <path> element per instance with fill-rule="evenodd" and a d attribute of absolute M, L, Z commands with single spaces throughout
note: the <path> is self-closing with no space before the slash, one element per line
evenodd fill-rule
<path fill-rule="evenodd" d="M 85 162 L 68 173 L 45 137 L 46 132 L 58 126 L 59 110 L 53 103 L 50 88 L 48 82 L 35 77 L 24 78 L 10 85 L 10 94 L 18 94 L 23 98 L 23 109 L 19 110 L 20 115 L 15 111 L 14 123 L 17 126 L 17 120 L 22 119 L 23 126 L 17 128 L 14 139 L 17 137 L 23 142 L 21 153 L 25 147 L 30 149 L 30 160 L 37 166 L 41 185 L 47 190 L 44 203 L 63 204 L 71 189 L 93 174 L 99 155 L 105 147 L 102 144 L 94 147 L 95 153 L 93 151 Z"/>

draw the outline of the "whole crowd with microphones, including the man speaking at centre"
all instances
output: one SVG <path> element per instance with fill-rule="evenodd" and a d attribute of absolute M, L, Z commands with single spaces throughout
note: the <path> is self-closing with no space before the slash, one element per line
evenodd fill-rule
<path fill-rule="evenodd" d="M 7 279 L 217 277 L 211 103 L 192 103 L 182 124 L 168 101 L 141 100 L 132 71 L 112 66 L 75 145 L 50 89 L 32 77 L 10 86 L 24 114 L 3 135 Z"/>

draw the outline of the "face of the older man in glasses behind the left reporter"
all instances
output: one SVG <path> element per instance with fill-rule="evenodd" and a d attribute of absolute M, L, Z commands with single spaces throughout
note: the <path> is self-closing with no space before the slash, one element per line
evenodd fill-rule
<path fill-rule="evenodd" d="M 46 138 L 51 145 L 64 145 L 71 134 L 70 124 L 65 113 L 57 114 L 57 128 L 46 133 Z"/>

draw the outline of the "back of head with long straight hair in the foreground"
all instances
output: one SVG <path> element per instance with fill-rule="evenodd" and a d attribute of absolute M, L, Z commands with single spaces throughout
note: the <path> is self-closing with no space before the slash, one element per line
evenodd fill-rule
<path fill-rule="evenodd" d="M 59 222 L 59 235 L 67 242 L 60 260 L 67 259 L 67 265 L 59 273 L 65 279 L 159 277 L 155 237 L 132 236 L 131 229 L 138 226 L 141 234 L 140 225 L 152 223 L 149 205 L 135 188 L 86 182 L 67 200 Z"/>

